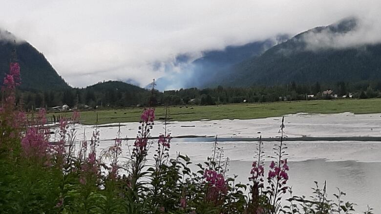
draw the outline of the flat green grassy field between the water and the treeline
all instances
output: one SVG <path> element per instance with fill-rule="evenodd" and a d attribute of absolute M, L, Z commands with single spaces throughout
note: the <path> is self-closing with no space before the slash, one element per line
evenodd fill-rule
<path fill-rule="evenodd" d="M 126 108 L 114 110 L 96 110 L 81 112 L 81 122 L 92 125 L 113 122 L 138 122 L 142 108 Z M 263 117 L 279 117 L 286 114 L 305 113 L 342 113 L 355 114 L 381 113 L 381 98 L 378 99 L 338 99 L 338 100 L 309 100 L 272 103 L 239 103 L 214 106 L 170 106 L 171 120 L 191 121 L 200 119 L 254 119 Z M 62 113 L 48 113 L 52 117 Z M 63 113 L 70 117 L 71 113 Z M 156 107 L 156 119 L 164 117 L 165 107 Z"/>

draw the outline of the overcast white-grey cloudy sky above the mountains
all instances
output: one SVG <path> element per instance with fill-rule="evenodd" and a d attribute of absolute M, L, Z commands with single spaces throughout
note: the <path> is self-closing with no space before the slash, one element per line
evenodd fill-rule
<path fill-rule="evenodd" d="M 348 38 L 331 38 L 328 45 L 381 39 L 379 0 L 4 0 L 1 5 L 0 28 L 31 43 L 74 87 L 111 79 L 146 86 L 168 75 L 165 65 L 180 54 L 197 58 L 202 51 L 295 35 L 346 17 L 360 18 L 365 27 Z M 326 38 L 312 39 L 311 47 L 327 44 Z"/>

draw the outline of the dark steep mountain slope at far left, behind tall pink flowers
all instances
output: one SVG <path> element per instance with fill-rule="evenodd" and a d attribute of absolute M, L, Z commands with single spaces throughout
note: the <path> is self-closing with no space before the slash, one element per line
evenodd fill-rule
<path fill-rule="evenodd" d="M 15 43 L 14 40 L 17 42 Z M 61 90 L 70 86 L 57 74 L 48 60 L 26 41 L 0 30 L 0 80 L 9 71 L 9 62 L 16 48 L 20 63 L 21 90 Z"/>

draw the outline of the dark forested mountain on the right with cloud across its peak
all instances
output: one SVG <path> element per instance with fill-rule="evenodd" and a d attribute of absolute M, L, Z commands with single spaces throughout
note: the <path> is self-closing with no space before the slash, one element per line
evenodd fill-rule
<path fill-rule="evenodd" d="M 316 27 L 244 60 L 216 82 L 225 86 L 357 82 L 381 79 L 381 44 L 339 46 L 359 28 L 355 18 Z"/>

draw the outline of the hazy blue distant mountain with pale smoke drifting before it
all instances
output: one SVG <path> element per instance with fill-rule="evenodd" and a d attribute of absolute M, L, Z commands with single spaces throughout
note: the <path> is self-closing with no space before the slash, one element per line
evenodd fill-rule
<path fill-rule="evenodd" d="M 228 73 L 232 66 L 243 59 L 260 55 L 279 41 L 288 39 L 281 35 L 275 39 L 255 41 L 245 45 L 227 46 L 224 50 L 211 50 L 202 53 L 202 57 L 192 59 L 187 55 L 177 56 L 173 65 L 165 66 L 167 73 L 164 78 L 156 81 L 156 88 L 163 91 L 173 88 L 207 87 L 215 83 L 216 79 Z"/>

